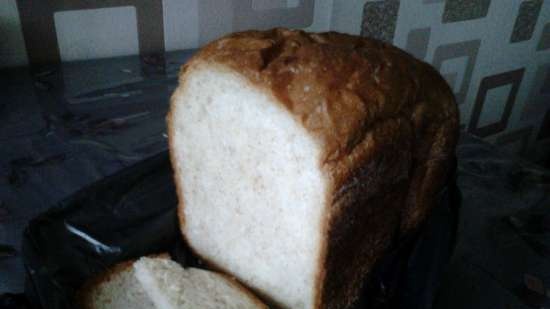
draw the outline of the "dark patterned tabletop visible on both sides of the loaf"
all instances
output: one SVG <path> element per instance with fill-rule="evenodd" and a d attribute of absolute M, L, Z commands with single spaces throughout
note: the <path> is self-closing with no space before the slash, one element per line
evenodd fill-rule
<path fill-rule="evenodd" d="M 166 150 L 169 96 L 192 53 L 0 71 L 0 245 L 16 251 L 0 254 L 0 294 L 23 290 L 18 253 L 30 218 Z M 548 301 L 525 281 L 550 289 L 550 172 L 465 134 L 457 154 L 459 238 L 436 307 Z"/>

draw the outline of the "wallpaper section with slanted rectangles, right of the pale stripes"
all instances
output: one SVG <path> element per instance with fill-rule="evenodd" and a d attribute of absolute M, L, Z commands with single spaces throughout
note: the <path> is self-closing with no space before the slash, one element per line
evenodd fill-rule
<path fill-rule="evenodd" d="M 528 159 L 550 158 L 550 1 L 369 1 L 361 34 L 431 63 L 462 127 Z"/>

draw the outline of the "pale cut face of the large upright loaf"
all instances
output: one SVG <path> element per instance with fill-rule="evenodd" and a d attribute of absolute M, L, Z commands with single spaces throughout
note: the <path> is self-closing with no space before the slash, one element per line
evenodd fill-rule
<path fill-rule="evenodd" d="M 279 306 L 312 308 L 328 189 L 318 141 L 223 65 L 193 67 L 173 100 L 187 242 Z"/>

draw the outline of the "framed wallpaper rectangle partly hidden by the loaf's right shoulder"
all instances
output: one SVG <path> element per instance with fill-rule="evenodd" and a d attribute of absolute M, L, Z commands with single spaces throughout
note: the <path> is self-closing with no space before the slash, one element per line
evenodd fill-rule
<path fill-rule="evenodd" d="M 470 79 L 476 63 L 481 40 L 465 41 L 441 45 L 435 49 L 433 66 L 438 69 L 453 87 L 458 104 L 464 103 Z M 450 62 L 449 64 L 445 64 Z M 458 65 L 458 66 L 457 66 Z M 443 71 L 442 69 L 451 69 Z"/>

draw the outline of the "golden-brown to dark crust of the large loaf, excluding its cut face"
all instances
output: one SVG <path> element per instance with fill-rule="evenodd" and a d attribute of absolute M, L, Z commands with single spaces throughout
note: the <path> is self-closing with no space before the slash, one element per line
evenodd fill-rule
<path fill-rule="evenodd" d="M 322 145 L 332 189 L 316 307 L 346 308 L 393 240 L 435 205 L 458 138 L 451 90 L 432 67 L 391 45 L 334 32 L 231 34 L 199 51 L 180 85 L 201 63 L 229 67 L 274 95 Z"/>

